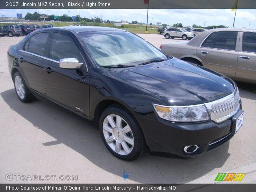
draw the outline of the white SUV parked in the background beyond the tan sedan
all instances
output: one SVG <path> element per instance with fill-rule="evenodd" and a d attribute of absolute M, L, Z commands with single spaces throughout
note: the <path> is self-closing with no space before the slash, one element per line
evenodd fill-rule
<path fill-rule="evenodd" d="M 183 40 L 190 40 L 192 39 L 195 35 L 192 32 L 188 32 L 183 28 L 168 28 L 164 30 L 164 36 L 166 39 L 169 38 L 182 38 Z"/>

